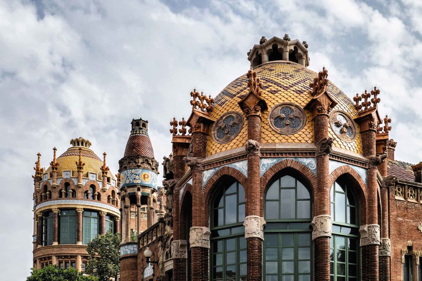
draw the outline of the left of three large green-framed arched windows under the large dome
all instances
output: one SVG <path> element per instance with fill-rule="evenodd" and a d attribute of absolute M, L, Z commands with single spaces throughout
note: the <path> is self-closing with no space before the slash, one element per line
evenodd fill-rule
<path fill-rule="evenodd" d="M 212 281 L 246 281 L 245 191 L 232 177 L 219 181 L 210 204 Z"/>

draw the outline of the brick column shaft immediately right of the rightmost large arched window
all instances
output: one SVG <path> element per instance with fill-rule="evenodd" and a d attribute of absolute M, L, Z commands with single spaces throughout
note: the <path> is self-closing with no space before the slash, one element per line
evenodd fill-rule
<path fill-rule="evenodd" d="M 363 156 L 370 157 L 376 155 L 376 132 L 368 130 L 361 133 Z M 369 168 L 367 171 L 368 182 L 368 222 L 367 224 L 378 224 L 378 200 L 376 179 L 376 168 Z M 378 281 L 379 280 L 379 253 L 378 245 L 367 245 L 361 247 L 362 256 L 362 281 Z"/>

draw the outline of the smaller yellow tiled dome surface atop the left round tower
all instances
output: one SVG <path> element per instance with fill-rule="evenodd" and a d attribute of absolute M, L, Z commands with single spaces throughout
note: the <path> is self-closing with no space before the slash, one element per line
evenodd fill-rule
<path fill-rule="evenodd" d="M 103 166 L 103 160 L 100 159 L 92 150 L 87 147 L 82 148 L 82 162 L 85 163 L 83 177 L 87 177 L 87 172 L 97 173 L 97 179 L 102 180 L 101 166 Z M 79 161 L 79 147 L 70 147 L 59 157 L 57 157 L 57 163 L 59 167 L 57 169 L 57 177 L 62 177 L 62 171 L 73 171 L 73 177 L 78 175 L 78 169 L 76 162 Z M 47 172 L 51 172 L 51 166 L 47 169 Z M 108 171 L 108 177 L 114 179 L 113 173 Z"/>

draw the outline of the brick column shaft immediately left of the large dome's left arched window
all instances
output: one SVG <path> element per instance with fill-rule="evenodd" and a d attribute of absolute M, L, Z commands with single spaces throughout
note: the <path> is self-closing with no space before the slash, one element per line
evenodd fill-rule
<path fill-rule="evenodd" d="M 196 158 L 206 157 L 206 144 L 208 135 L 202 132 L 192 133 L 192 154 Z M 204 206 L 200 203 L 205 193 L 202 189 L 202 170 L 193 169 L 192 171 L 192 227 L 208 227 L 209 222 L 205 222 L 203 217 Z M 206 210 L 208 211 L 208 210 Z M 209 249 L 194 247 L 192 253 L 192 281 L 209 280 Z"/>

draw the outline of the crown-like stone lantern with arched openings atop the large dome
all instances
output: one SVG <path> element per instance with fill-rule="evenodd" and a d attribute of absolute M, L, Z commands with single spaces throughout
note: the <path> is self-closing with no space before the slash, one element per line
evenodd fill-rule
<path fill-rule="evenodd" d="M 300 43 L 297 39 L 291 40 L 288 34 L 283 39 L 272 37 L 267 40 L 262 36 L 260 43 L 249 50 L 248 60 L 252 67 L 272 61 L 289 61 L 308 67 L 308 44 L 306 41 Z"/>

